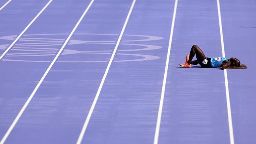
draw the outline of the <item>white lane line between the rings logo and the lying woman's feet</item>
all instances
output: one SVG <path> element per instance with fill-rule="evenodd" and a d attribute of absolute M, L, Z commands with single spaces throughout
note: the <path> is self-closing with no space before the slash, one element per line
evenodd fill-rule
<path fill-rule="evenodd" d="M 160 98 L 160 104 L 159 104 L 159 110 L 158 110 L 158 117 L 157 117 L 157 121 L 156 121 L 156 131 L 155 131 L 155 137 L 154 137 L 154 144 L 158 144 L 161 116 L 162 116 L 162 110 L 163 110 L 163 99 L 164 99 L 164 95 L 165 95 L 165 84 L 166 84 L 166 79 L 167 79 L 167 72 L 168 72 L 168 66 L 169 66 L 171 46 L 172 46 L 172 41 L 173 41 L 173 30 L 174 30 L 174 23 L 175 23 L 177 6 L 178 6 L 178 0 L 175 0 L 174 10 L 173 10 L 173 22 L 172 22 L 172 26 L 171 26 L 171 35 L 170 35 L 170 39 L 169 39 L 169 46 L 168 46 L 168 52 L 167 52 L 166 64 L 165 64 L 165 74 L 163 76 L 163 86 L 162 86 L 162 92 L 161 92 L 161 98 Z"/>

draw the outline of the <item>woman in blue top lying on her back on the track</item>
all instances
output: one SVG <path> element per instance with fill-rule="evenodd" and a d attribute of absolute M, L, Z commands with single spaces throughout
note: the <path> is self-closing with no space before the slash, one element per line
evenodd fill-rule
<path fill-rule="evenodd" d="M 196 55 L 197 60 L 192 61 L 193 57 Z M 244 69 L 247 68 L 245 65 L 240 65 L 240 61 L 235 57 L 231 57 L 227 59 L 226 57 L 211 57 L 208 58 L 204 55 L 202 50 L 193 45 L 190 54 L 186 55 L 186 62 L 180 64 L 181 67 L 190 68 L 191 65 L 199 64 L 203 68 L 221 68 L 222 70 L 226 68 L 234 68 L 234 69 Z"/>

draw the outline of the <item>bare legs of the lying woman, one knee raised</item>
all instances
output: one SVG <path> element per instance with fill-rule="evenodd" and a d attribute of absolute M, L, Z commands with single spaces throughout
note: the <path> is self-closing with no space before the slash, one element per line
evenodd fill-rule
<path fill-rule="evenodd" d="M 187 64 L 192 64 L 192 65 L 194 65 L 195 64 L 195 62 L 193 62 L 192 61 L 192 59 L 193 59 L 193 57 L 196 55 L 196 57 L 197 57 L 197 64 L 199 63 L 199 62 L 202 62 L 202 61 L 204 61 L 204 59 L 206 58 L 205 57 L 205 55 L 204 55 L 204 53 L 203 53 L 203 51 L 198 47 L 198 46 L 196 46 L 196 45 L 193 45 L 192 46 L 192 48 L 191 48 L 191 50 L 190 50 L 190 54 L 189 54 L 189 60 L 187 61 Z M 194 64 L 193 64 L 193 63 Z"/>

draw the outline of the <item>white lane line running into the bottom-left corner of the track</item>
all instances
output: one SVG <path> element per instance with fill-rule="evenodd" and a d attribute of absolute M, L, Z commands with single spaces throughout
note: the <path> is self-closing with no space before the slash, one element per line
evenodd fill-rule
<path fill-rule="evenodd" d="M 20 116 L 22 115 L 22 113 L 24 112 L 24 110 L 26 109 L 26 107 L 28 106 L 28 104 L 30 103 L 30 101 L 32 100 L 33 96 L 35 95 L 35 92 L 37 91 L 37 89 L 40 87 L 41 83 L 43 82 L 43 80 L 45 79 L 46 75 L 48 74 L 48 72 L 50 71 L 50 69 L 52 68 L 52 65 L 55 63 L 55 61 L 57 60 L 57 58 L 59 57 L 59 55 L 61 54 L 61 52 L 63 51 L 64 47 L 67 45 L 67 43 L 70 40 L 70 37 L 73 35 L 74 31 L 76 30 L 76 28 L 78 27 L 78 25 L 80 24 L 80 22 L 82 21 L 83 17 L 85 16 L 85 14 L 87 13 L 87 11 L 89 10 L 89 8 L 91 7 L 91 5 L 93 4 L 94 0 L 91 0 L 90 4 L 87 6 L 87 8 L 85 9 L 85 11 L 83 12 L 83 15 L 80 17 L 80 19 L 78 20 L 78 22 L 76 23 L 76 26 L 74 26 L 73 30 L 71 31 L 71 33 L 69 34 L 69 37 L 66 39 L 66 41 L 64 42 L 63 46 L 60 48 L 58 54 L 56 55 L 56 57 L 54 58 L 54 60 L 52 61 L 52 63 L 50 64 L 50 66 L 47 68 L 45 74 L 43 75 L 43 77 L 40 79 L 39 83 L 37 84 L 37 86 L 35 87 L 35 89 L 33 90 L 32 94 L 30 95 L 30 97 L 28 98 L 28 100 L 26 101 L 26 103 L 23 105 L 22 109 L 20 110 L 19 114 L 17 115 L 17 117 L 15 118 L 15 120 L 13 121 L 13 123 L 11 124 L 11 126 L 9 127 L 9 129 L 7 130 L 6 134 L 4 135 L 4 137 L 2 138 L 0 144 L 4 144 L 4 142 L 6 141 L 6 138 L 9 136 L 9 134 L 11 133 L 13 127 L 16 125 L 16 123 L 18 122 Z"/>

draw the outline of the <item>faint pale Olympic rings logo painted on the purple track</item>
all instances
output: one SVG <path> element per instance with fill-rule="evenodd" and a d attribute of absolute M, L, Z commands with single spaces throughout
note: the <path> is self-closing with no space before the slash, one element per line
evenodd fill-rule
<path fill-rule="evenodd" d="M 3 61 L 51 62 L 63 45 L 67 33 L 29 34 L 22 38 L 5 55 Z M 64 48 L 57 62 L 61 63 L 100 63 L 108 62 L 116 44 L 118 34 L 75 33 Z M 0 37 L 13 41 L 17 35 Z M 163 37 L 150 35 L 123 35 L 114 62 L 148 61 L 159 59 L 156 55 L 139 54 L 142 51 L 162 48 L 157 45 L 138 44 L 145 41 L 158 41 Z M 0 45 L 5 50 L 9 44 Z M 155 53 L 155 52 L 154 52 Z M 150 51 L 152 54 L 152 51 Z M 74 56 L 76 55 L 76 56 Z"/>

